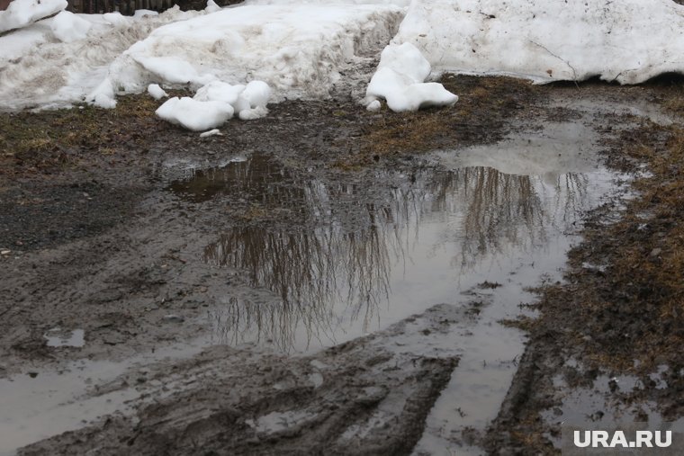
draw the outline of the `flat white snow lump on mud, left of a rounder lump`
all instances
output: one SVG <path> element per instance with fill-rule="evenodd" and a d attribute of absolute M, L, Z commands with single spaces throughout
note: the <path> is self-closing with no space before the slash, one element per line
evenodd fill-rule
<path fill-rule="evenodd" d="M 228 121 L 233 116 L 233 107 L 225 102 L 198 102 L 188 96 L 175 96 L 159 106 L 156 114 L 187 130 L 204 131 Z"/>

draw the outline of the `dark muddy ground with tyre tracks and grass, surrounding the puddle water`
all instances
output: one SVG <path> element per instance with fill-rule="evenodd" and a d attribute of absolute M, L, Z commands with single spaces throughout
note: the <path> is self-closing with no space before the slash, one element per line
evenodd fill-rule
<path fill-rule="evenodd" d="M 410 179 L 430 150 L 495 143 L 510 130 L 589 111 L 606 163 L 650 174 L 635 180 L 638 193 L 624 205 L 587 214 L 566 282 L 539 290 L 536 319 L 509 322 L 529 332 L 529 343 L 499 416 L 476 444 L 492 454 L 557 452 L 554 410 L 563 413 L 563 398 L 603 375 L 642 380 L 629 392 L 611 388 L 611 400 L 635 409 L 655 403 L 662 416 L 680 418 L 684 85 L 663 78 L 635 87 L 534 86 L 451 75 L 442 82 L 461 97 L 453 108 L 366 112 L 344 96 L 286 102 L 208 139 L 158 121 L 158 103 L 145 96 L 112 111 L 0 114 L 0 379 L 81 359 L 125 360 L 202 335 L 205 308 L 248 280 L 198 258 L 226 224 L 296 231 L 324 223 L 301 210 L 292 188 L 303 179 L 367 187 L 363 202 L 382 205 L 375 189 L 399 184 L 383 171 Z M 258 185 L 238 195 L 211 180 L 188 187 L 173 166 L 193 160 L 211 168 L 250 155 L 265 157 L 264 182 L 282 180 L 287 198 Z M 341 197 L 340 205 L 350 224 L 367 215 L 357 200 Z M 131 414 L 103 416 L 23 453 L 408 454 L 458 358 L 388 347 L 464 318 L 449 312 L 431 308 L 303 357 L 218 346 L 159 361 L 106 389 L 135 385 L 142 399 Z M 85 344 L 49 347 L 44 335 L 56 326 L 82 328 Z M 659 369 L 665 388 L 653 379 Z M 554 381 L 559 371 L 563 383 Z M 283 409 L 288 416 L 277 415 Z M 586 415 L 597 412 L 604 413 Z"/>

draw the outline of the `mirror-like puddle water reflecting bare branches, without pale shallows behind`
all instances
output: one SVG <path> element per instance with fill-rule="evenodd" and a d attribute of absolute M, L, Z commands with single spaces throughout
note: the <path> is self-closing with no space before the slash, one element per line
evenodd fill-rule
<path fill-rule="evenodd" d="M 505 275 L 491 264 L 534 256 L 562 237 L 590 207 L 590 183 L 590 174 L 549 179 L 471 166 L 350 185 L 252 156 L 173 189 L 193 201 L 220 192 L 298 211 L 296 227 L 230 228 L 204 253 L 247 282 L 211 311 L 221 342 L 290 351 L 363 335 L 454 302 L 459 286 L 486 274 Z"/>

